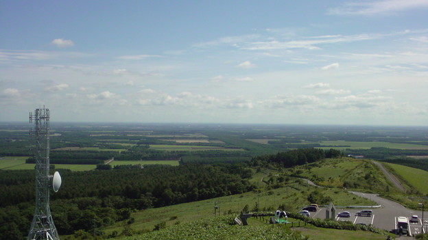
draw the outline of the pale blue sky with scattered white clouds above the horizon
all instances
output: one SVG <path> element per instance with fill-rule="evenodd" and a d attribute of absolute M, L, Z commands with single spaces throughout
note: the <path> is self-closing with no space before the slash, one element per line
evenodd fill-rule
<path fill-rule="evenodd" d="M 0 121 L 422 125 L 428 1 L 0 1 Z"/>

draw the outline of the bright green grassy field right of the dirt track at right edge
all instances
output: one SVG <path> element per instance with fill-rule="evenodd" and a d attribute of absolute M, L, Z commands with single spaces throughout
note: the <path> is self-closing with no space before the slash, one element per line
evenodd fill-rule
<path fill-rule="evenodd" d="M 409 168 L 404 165 L 383 163 L 390 166 L 396 174 L 404 178 L 412 187 L 418 189 L 422 194 L 428 194 L 428 172 L 417 168 Z"/>

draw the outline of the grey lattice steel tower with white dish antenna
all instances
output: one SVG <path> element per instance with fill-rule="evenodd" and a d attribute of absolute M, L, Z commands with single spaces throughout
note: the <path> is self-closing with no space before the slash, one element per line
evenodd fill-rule
<path fill-rule="evenodd" d="M 60 239 L 53 224 L 49 209 L 49 185 L 53 176 L 49 175 L 49 109 L 36 109 L 29 113 L 29 122 L 34 120 L 34 129 L 30 129 L 33 157 L 36 160 L 36 211 L 27 240 Z M 59 188 L 59 187 L 58 187 Z"/>

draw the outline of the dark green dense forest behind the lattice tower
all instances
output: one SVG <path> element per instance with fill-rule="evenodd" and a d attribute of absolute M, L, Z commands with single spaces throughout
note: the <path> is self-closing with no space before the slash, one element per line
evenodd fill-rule
<path fill-rule="evenodd" d="M 243 165 L 150 165 L 140 169 L 71 172 L 51 196 L 56 227 L 67 235 L 129 219 L 132 209 L 147 209 L 251 191 L 251 171 Z M 34 211 L 34 171 L 0 171 L 0 232 L 25 236 Z M 18 234 L 19 232 L 19 234 Z M 4 235 L 0 239 L 11 239 Z"/>

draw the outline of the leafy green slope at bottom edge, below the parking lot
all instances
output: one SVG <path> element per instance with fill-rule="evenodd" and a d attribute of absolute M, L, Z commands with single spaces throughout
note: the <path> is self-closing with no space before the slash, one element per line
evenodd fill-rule
<path fill-rule="evenodd" d="M 289 228 L 281 224 L 257 224 L 253 220 L 248 226 L 233 224 L 233 217 L 211 217 L 190 224 L 148 232 L 143 235 L 123 237 L 120 240 L 140 239 L 385 239 L 385 235 L 362 230 L 335 230 L 306 226 Z"/>

